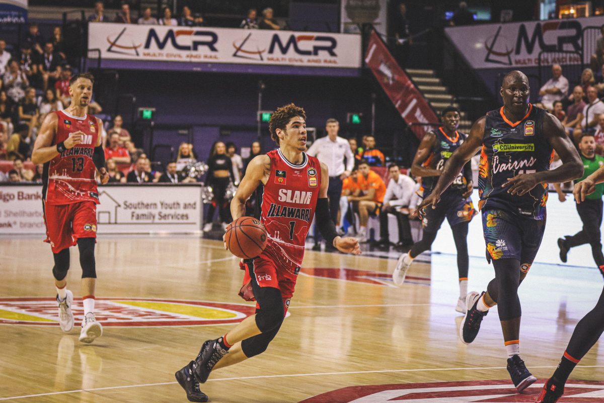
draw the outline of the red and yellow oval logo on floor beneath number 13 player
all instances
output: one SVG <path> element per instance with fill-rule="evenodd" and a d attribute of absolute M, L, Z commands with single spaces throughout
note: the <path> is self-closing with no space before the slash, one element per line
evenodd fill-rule
<path fill-rule="evenodd" d="M 82 301 L 72 306 L 76 320 L 84 316 Z M 239 323 L 253 315 L 253 306 L 235 303 L 164 300 L 158 298 L 97 298 L 95 313 L 103 326 L 203 326 Z M 0 298 L 0 324 L 58 326 L 54 297 Z"/>

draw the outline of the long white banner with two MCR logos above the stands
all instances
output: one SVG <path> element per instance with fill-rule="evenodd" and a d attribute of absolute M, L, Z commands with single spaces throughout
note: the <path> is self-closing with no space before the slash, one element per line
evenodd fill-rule
<path fill-rule="evenodd" d="M 347 34 L 94 22 L 88 48 L 102 59 L 361 67 L 361 37 Z"/>

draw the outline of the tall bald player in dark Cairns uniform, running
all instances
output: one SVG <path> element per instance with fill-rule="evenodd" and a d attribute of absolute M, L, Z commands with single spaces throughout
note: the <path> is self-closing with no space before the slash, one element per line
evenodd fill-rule
<path fill-rule="evenodd" d="M 579 178 L 583 164 L 560 121 L 528 102 L 530 88 L 524 73 L 506 74 L 500 94 L 503 107 L 475 121 L 466 141 L 449 158 L 431 195 L 418 208 L 429 205 L 435 208 L 441 193 L 464 164 L 481 150 L 478 207 L 495 279 L 490 281 L 486 292 L 467 294 L 467 313 L 460 326 L 460 338 L 466 344 L 472 343 L 483 317 L 497 304 L 509 356 L 507 370 L 521 392 L 536 378 L 519 355 L 518 286 L 543 237 L 547 183 Z M 563 164 L 549 170 L 552 148 Z"/>

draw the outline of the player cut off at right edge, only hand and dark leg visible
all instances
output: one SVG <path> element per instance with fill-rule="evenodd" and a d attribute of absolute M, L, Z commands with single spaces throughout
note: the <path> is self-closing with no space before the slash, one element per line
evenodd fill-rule
<path fill-rule="evenodd" d="M 596 185 L 602 182 L 604 182 L 604 166 L 600 166 L 591 175 L 574 185 L 573 195 L 577 208 L 581 203 L 590 200 L 586 196 L 592 195 L 594 192 L 601 192 Z M 585 314 L 574 328 L 558 367 L 543 385 L 536 403 L 556 403 L 558 401 L 564 393 L 564 385 L 568 376 L 583 356 L 596 344 L 596 341 L 602 336 L 602 332 L 604 332 L 604 289 L 602 289 L 602 294 L 594 309 Z"/>

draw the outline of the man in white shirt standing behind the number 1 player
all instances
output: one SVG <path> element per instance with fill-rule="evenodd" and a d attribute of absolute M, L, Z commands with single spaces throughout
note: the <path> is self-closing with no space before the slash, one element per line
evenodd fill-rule
<path fill-rule="evenodd" d="M 329 169 L 329 187 L 327 188 L 327 197 L 329 198 L 329 213 L 333 224 L 338 224 L 339 199 L 342 194 L 342 180 L 350 175 L 355 167 L 355 156 L 350 150 L 348 141 L 338 137 L 339 122 L 334 118 L 327 119 L 325 124 L 326 137 L 317 139 L 306 152 L 327 165 Z M 346 164 L 344 165 L 344 157 Z M 315 231 L 318 234 L 318 231 Z M 315 236 L 315 246 L 313 250 L 320 250 L 320 236 Z M 328 247 L 330 245 L 327 245 Z"/>

